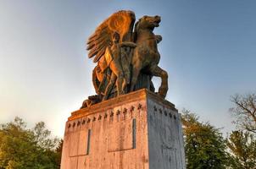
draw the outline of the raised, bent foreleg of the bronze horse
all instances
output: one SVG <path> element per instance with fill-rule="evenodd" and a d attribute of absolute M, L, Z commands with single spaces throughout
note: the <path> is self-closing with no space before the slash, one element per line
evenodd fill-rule
<path fill-rule="evenodd" d="M 153 76 L 157 76 L 161 78 L 161 85 L 159 87 L 158 94 L 161 95 L 163 98 L 165 98 L 167 91 L 168 91 L 168 74 L 165 70 L 160 68 L 159 66 L 153 68 L 151 70 L 151 73 Z"/>

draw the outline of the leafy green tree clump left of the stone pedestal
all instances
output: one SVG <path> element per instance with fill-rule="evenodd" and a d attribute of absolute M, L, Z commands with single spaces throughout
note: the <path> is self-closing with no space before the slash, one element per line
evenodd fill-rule
<path fill-rule="evenodd" d="M 54 150 L 57 144 L 45 123 L 28 129 L 15 117 L 14 122 L 0 125 L 0 169 L 59 168 L 60 155 Z"/>

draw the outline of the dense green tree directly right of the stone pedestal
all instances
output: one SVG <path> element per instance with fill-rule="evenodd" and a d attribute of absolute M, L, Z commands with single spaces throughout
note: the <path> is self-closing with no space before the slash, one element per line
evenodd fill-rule
<path fill-rule="evenodd" d="M 199 123 L 199 117 L 189 111 L 182 112 L 185 134 L 187 169 L 225 168 L 225 141 L 218 128 L 209 123 Z"/>

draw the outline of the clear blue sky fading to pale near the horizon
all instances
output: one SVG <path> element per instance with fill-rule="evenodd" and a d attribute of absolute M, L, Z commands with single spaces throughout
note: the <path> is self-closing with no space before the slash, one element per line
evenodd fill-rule
<path fill-rule="evenodd" d="M 231 95 L 256 91 L 254 0 L 0 0 L 0 123 L 44 121 L 63 137 L 70 113 L 94 95 L 86 40 L 120 10 L 160 15 L 166 99 L 222 132 L 234 129 Z M 153 78 L 159 87 L 159 78 Z"/>

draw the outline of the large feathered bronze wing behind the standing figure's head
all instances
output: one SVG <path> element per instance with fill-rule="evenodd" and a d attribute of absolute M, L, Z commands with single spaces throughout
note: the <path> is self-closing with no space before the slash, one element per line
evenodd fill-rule
<path fill-rule="evenodd" d="M 86 48 L 89 51 L 88 57 L 94 57 L 93 62 L 97 63 L 106 47 L 111 46 L 114 32 L 120 34 L 120 42 L 131 41 L 134 22 L 135 14 L 131 11 L 122 10 L 112 14 L 89 37 Z"/>

